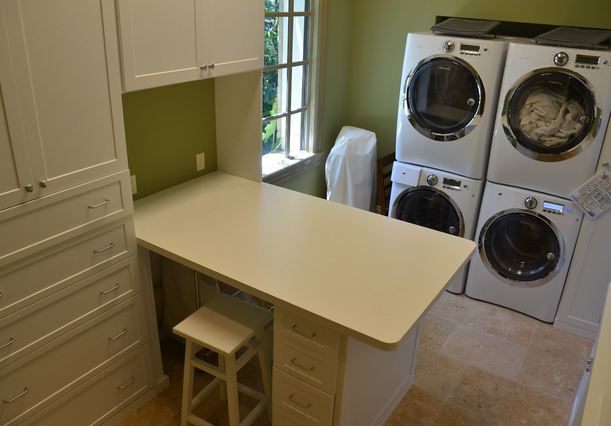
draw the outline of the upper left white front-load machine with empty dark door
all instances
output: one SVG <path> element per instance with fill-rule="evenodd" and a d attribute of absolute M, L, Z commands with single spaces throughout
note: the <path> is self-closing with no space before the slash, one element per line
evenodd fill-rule
<path fill-rule="evenodd" d="M 482 179 L 507 42 L 408 34 L 397 160 Z"/>

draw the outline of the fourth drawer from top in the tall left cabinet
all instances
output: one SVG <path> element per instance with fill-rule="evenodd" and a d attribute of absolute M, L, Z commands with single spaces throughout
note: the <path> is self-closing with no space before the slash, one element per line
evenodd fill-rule
<path fill-rule="evenodd" d="M 104 369 L 144 336 L 140 296 L 0 370 L 1 424 L 14 424 Z"/>

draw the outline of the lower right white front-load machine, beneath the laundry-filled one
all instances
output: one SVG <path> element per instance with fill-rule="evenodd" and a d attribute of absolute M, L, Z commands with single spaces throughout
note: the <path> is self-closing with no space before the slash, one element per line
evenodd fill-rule
<path fill-rule="evenodd" d="M 488 182 L 467 296 L 553 322 L 582 216 L 565 199 Z"/>

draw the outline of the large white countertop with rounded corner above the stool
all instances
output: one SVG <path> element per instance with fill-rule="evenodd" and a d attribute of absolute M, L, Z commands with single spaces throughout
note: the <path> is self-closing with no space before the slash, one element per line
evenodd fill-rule
<path fill-rule="evenodd" d="M 135 203 L 139 244 L 392 349 L 472 241 L 215 172 Z"/>

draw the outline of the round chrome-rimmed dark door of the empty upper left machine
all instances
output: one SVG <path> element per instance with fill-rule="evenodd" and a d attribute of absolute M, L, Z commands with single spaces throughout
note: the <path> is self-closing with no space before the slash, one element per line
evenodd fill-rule
<path fill-rule="evenodd" d="M 405 83 L 405 114 L 418 132 L 436 141 L 452 141 L 479 123 L 484 86 L 465 61 L 437 55 L 420 62 Z"/>

